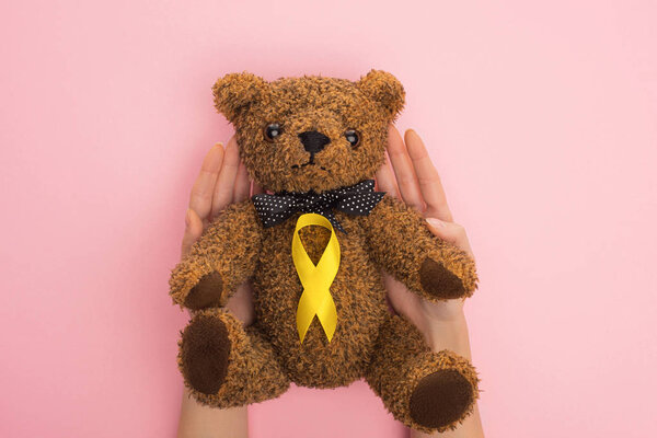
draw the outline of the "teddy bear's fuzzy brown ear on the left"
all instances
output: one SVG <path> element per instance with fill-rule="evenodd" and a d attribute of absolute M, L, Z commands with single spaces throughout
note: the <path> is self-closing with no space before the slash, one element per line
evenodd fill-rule
<path fill-rule="evenodd" d="M 215 106 L 231 123 L 253 102 L 264 99 L 267 92 L 267 82 L 246 71 L 226 74 L 212 87 Z"/>

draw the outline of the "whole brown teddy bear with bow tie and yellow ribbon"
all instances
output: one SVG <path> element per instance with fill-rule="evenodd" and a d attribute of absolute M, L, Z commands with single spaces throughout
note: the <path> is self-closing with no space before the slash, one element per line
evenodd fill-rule
<path fill-rule="evenodd" d="M 433 301 L 469 297 L 477 281 L 463 251 L 374 192 L 402 84 L 377 70 L 356 82 L 243 72 L 221 78 L 214 94 L 268 194 L 221 212 L 172 273 L 174 302 L 194 311 L 178 355 L 192 394 L 224 408 L 277 397 L 290 382 L 365 378 L 405 425 L 453 429 L 479 396 L 476 372 L 390 314 L 381 277 Z M 256 322 L 244 328 L 224 304 L 246 280 Z"/>

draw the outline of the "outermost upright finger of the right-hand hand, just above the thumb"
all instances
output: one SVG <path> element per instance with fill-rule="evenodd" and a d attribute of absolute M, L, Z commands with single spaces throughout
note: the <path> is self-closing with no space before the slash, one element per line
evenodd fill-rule
<path fill-rule="evenodd" d="M 404 135 L 406 150 L 417 175 L 417 184 L 426 204 L 425 215 L 449 222 L 453 221 L 452 214 L 447 205 L 447 196 L 440 182 L 440 175 L 431 162 L 422 138 L 413 129 Z"/>

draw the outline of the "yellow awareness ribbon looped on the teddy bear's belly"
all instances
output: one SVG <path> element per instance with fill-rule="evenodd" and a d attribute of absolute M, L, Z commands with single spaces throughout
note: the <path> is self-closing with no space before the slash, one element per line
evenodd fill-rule
<path fill-rule="evenodd" d="M 299 230 L 308 226 L 320 226 L 331 231 L 328 244 L 324 249 L 316 266 L 310 260 L 301 243 L 301 238 L 299 238 Z M 339 267 L 339 243 L 337 243 L 335 230 L 333 230 L 333 226 L 328 219 L 315 214 L 306 214 L 299 217 L 295 235 L 292 237 L 292 261 L 303 286 L 303 292 L 297 308 L 299 339 L 303 344 L 306 333 L 316 315 L 328 342 L 331 342 L 335 333 L 335 326 L 337 325 L 337 311 L 335 310 L 335 302 L 333 301 L 333 297 L 331 297 L 328 288 L 333 284 L 337 275 L 337 268 Z"/>

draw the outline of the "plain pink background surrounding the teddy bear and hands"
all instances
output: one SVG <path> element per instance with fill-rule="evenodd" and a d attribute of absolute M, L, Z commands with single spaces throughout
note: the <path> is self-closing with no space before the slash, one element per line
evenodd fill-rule
<path fill-rule="evenodd" d="M 495 3 L 495 4 L 492 4 Z M 231 127 L 219 76 L 376 67 L 407 91 L 482 285 L 489 437 L 657 426 L 657 4 L 0 5 L 0 436 L 172 437 L 166 295 L 187 195 Z M 251 408 L 253 437 L 400 437 L 362 383 Z"/>

